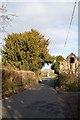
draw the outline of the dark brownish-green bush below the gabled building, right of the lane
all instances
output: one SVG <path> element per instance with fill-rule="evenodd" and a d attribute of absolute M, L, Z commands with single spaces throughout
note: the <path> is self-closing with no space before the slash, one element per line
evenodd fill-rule
<path fill-rule="evenodd" d="M 80 82 L 75 75 L 70 73 L 59 74 L 60 87 L 66 91 L 80 91 Z"/>

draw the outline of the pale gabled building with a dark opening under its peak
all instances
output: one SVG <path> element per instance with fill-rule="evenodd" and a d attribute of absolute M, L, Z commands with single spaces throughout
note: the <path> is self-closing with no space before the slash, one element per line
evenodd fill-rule
<path fill-rule="evenodd" d="M 60 72 L 78 74 L 79 58 L 71 53 L 63 62 L 60 63 Z"/>

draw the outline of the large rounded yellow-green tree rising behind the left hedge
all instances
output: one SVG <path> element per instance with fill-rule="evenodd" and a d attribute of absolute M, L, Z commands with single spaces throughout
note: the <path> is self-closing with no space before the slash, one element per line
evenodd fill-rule
<path fill-rule="evenodd" d="M 2 63 L 14 69 L 37 71 L 50 60 L 48 53 L 49 39 L 45 39 L 38 31 L 12 33 L 4 38 Z"/>

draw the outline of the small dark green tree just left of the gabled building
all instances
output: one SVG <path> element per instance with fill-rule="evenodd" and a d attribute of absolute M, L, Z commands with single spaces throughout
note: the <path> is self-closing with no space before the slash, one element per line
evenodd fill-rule
<path fill-rule="evenodd" d="M 59 72 L 59 65 L 60 65 L 60 62 L 63 60 L 64 60 L 64 58 L 61 55 L 56 56 L 55 59 L 53 60 L 51 69 L 55 70 L 55 73 Z M 54 62 L 54 61 L 56 61 L 56 62 Z"/>

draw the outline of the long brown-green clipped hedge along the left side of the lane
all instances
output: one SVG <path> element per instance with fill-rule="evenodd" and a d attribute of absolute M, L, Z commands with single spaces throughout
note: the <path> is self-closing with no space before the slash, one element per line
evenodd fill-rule
<path fill-rule="evenodd" d="M 28 86 L 37 84 L 37 78 L 32 71 L 17 71 L 2 69 L 2 97 L 10 96 Z"/>

